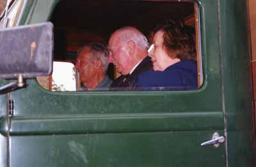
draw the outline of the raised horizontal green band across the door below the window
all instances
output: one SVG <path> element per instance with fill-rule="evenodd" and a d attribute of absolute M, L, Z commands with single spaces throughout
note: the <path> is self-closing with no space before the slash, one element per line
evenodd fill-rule
<path fill-rule="evenodd" d="M 1 122 L 1 134 L 7 134 Z M 11 135 L 211 131 L 223 129 L 221 112 L 14 116 Z"/>

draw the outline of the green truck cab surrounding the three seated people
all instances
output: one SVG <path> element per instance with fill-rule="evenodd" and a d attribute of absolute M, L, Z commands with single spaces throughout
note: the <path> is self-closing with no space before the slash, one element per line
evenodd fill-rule
<path fill-rule="evenodd" d="M 9 2 L 0 45 L 17 47 L 8 54 L 0 50 L 0 166 L 255 165 L 247 1 Z M 38 79 L 50 75 L 53 60 L 76 60 L 84 42 L 108 42 L 111 32 L 127 25 L 149 34 L 170 17 L 196 32 L 197 90 L 51 91 Z M 25 30 L 15 28 L 22 25 Z M 36 45 L 12 34 L 33 36 L 28 29 L 38 25 L 47 25 L 47 32 L 53 25 L 54 46 L 51 33 Z M 44 65 L 42 74 L 35 68 L 15 71 L 17 61 L 28 65 L 23 60 L 36 48 L 45 49 L 35 54 L 45 58 L 37 62 Z M 4 76 L 8 69 L 13 73 Z"/>

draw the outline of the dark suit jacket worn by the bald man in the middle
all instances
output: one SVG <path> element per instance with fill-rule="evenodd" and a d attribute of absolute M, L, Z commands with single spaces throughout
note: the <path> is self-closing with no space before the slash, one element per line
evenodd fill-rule
<path fill-rule="evenodd" d="M 110 86 L 110 90 L 135 90 L 137 77 L 145 71 L 152 70 L 152 61 L 150 57 L 144 58 L 134 69 L 131 75 L 120 76 Z"/>

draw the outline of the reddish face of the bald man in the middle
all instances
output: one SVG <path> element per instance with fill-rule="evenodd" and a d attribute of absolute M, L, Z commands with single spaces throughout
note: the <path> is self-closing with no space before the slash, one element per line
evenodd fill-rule
<path fill-rule="evenodd" d="M 126 75 L 129 74 L 129 54 L 125 47 L 125 42 L 121 42 L 118 34 L 114 34 L 109 39 L 109 63 L 113 63 L 117 72 Z"/>

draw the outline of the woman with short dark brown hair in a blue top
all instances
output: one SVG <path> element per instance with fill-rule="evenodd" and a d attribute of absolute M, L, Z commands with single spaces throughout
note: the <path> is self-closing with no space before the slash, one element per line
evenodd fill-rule
<path fill-rule="evenodd" d="M 154 71 L 138 77 L 137 88 L 193 90 L 197 88 L 194 33 L 182 22 L 169 21 L 154 34 L 154 48 L 149 52 Z"/>

